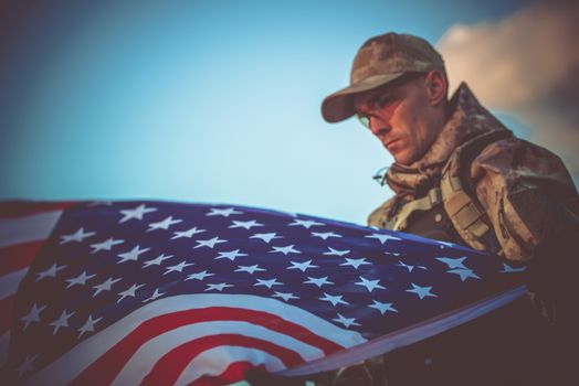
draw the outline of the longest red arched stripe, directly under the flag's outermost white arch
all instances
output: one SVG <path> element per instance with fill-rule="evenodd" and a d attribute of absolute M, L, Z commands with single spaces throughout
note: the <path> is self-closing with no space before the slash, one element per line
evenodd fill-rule
<path fill-rule="evenodd" d="M 208 321 L 243 321 L 263 325 L 270 330 L 291 335 L 302 342 L 314 345 L 329 353 L 344 349 L 343 346 L 318 336 L 299 324 L 283 320 L 266 312 L 235 309 L 230 307 L 212 307 L 196 310 L 185 310 L 159 315 L 143 322 L 122 341 L 116 343 L 103 356 L 86 367 L 74 380 L 76 385 L 108 385 L 120 372 L 125 363 L 147 341 L 182 325 Z"/>

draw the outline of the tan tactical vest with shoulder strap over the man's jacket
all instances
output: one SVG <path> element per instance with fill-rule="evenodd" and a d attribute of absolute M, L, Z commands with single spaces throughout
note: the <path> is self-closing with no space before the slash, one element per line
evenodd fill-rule
<path fill-rule="evenodd" d="M 396 197 L 387 201 L 370 216 L 370 221 L 375 214 L 381 219 L 372 225 L 502 255 L 488 215 L 476 199 L 469 175 L 473 160 L 484 148 L 512 136 L 508 130 L 493 131 L 456 148 L 442 169 L 440 186 L 389 211 L 393 213 L 386 214 L 385 211 L 392 202 L 397 205 Z"/>

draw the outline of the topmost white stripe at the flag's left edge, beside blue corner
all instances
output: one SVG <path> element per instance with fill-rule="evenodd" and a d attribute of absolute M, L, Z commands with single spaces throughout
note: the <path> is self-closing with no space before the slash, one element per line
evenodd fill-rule
<path fill-rule="evenodd" d="M 49 238 L 62 211 L 0 219 L 0 247 Z"/>

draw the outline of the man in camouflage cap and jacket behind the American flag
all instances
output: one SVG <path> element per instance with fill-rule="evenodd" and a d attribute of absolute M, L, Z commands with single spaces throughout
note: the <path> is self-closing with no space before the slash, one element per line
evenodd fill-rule
<path fill-rule="evenodd" d="M 394 159 L 382 179 L 394 196 L 369 225 L 528 261 L 529 293 L 547 321 L 576 323 L 579 200 L 569 172 L 552 152 L 514 137 L 466 84 L 449 99 L 443 60 L 427 41 L 397 33 L 368 40 L 350 85 L 326 97 L 322 114 L 329 122 L 356 115 Z M 528 310 L 519 301 L 331 384 L 557 384 L 551 372 L 561 363 L 547 356 L 562 349 Z"/>

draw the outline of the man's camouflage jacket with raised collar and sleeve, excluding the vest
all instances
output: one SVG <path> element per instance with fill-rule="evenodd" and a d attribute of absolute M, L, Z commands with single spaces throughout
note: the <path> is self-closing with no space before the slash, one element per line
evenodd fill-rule
<path fill-rule="evenodd" d="M 440 185 L 442 169 L 461 144 L 491 131 L 508 131 L 464 83 L 452 97 L 451 108 L 449 120 L 422 159 L 391 165 L 386 181 L 396 195 L 370 214 L 370 226 L 385 227 L 386 219 L 406 203 Z M 539 242 L 577 227 L 577 190 L 559 157 L 547 149 L 515 137 L 498 140 L 474 158 L 469 180 L 509 259 L 527 260 Z"/>

